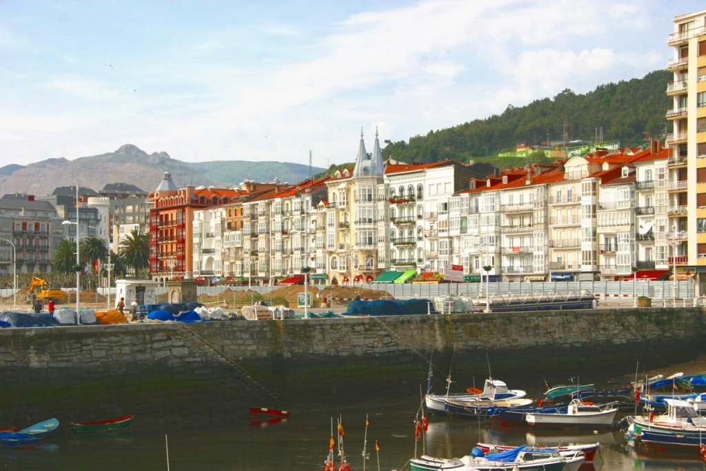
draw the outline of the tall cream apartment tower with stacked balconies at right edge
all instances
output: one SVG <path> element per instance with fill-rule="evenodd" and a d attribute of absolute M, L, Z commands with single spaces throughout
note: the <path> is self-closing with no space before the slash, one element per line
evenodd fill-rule
<path fill-rule="evenodd" d="M 706 293 L 706 10 L 676 16 L 667 44 L 674 58 L 667 70 L 674 81 L 666 93 L 674 104 L 666 117 L 671 156 L 667 162 L 669 265 L 677 278 L 695 275 L 698 294 Z"/>

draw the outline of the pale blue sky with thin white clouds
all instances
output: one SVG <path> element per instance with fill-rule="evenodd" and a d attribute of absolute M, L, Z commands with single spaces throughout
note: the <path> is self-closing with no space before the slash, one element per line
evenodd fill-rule
<path fill-rule="evenodd" d="M 0 0 L 0 167 L 123 144 L 316 167 L 666 68 L 703 0 Z M 556 135 L 561 134 L 561 123 Z"/>

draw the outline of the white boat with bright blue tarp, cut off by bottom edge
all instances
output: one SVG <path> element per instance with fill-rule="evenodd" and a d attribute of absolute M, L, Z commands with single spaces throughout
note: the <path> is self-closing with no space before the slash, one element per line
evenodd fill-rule
<path fill-rule="evenodd" d="M 486 455 L 480 448 L 473 448 L 470 455 L 461 458 L 433 458 L 422 455 L 409 460 L 412 471 L 577 471 L 586 457 L 582 451 L 562 455 L 546 448 L 527 445 L 511 448 L 501 453 Z"/>

